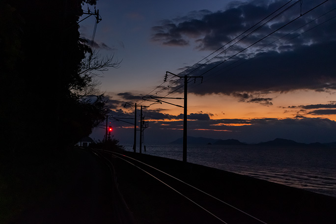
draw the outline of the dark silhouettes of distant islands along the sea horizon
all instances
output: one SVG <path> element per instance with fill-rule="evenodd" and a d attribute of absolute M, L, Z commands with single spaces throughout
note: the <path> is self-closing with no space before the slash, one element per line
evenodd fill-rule
<path fill-rule="evenodd" d="M 177 140 L 171 141 L 170 144 L 182 144 L 183 138 L 179 138 Z M 312 142 L 312 143 L 300 143 L 294 140 L 280 139 L 277 138 L 275 140 L 259 142 L 255 144 L 243 143 L 239 140 L 235 139 L 211 139 L 211 138 L 203 138 L 203 137 L 191 137 L 188 136 L 188 144 L 214 144 L 214 145 L 256 145 L 256 146 L 287 146 L 287 147 L 319 147 L 319 148 L 327 148 L 327 147 L 336 147 L 336 142 L 328 142 L 328 143 L 320 143 L 320 142 Z"/>

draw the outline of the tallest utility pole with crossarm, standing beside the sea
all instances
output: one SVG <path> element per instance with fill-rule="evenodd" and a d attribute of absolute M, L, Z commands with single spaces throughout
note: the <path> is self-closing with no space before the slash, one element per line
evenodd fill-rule
<path fill-rule="evenodd" d="M 195 82 L 196 82 L 196 78 L 202 78 L 202 81 L 203 81 L 203 77 L 202 76 L 178 76 L 178 75 L 175 75 L 174 73 L 171 73 L 171 72 L 166 72 L 166 76 L 165 76 L 165 82 L 167 81 L 167 76 L 168 76 L 168 73 L 173 75 L 173 76 L 176 76 L 180 79 L 184 78 L 184 107 L 183 107 L 183 155 L 182 155 L 182 161 L 183 162 L 187 162 L 187 130 L 188 130 L 188 127 L 187 127 L 187 122 L 188 122 L 188 99 L 187 99 L 187 96 L 188 96 L 188 80 L 190 78 L 194 78 L 195 79 Z"/>

